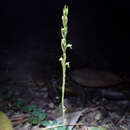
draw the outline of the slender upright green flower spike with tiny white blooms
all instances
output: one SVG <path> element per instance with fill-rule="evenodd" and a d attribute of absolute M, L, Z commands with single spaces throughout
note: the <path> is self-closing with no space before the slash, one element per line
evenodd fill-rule
<path fill-rule="evenodd" d="M 63 8 L 63 15 L 62 15 L 62 23 L 63 27 L 61 28 L 61 49 L 62 49 L 62 56 L 60 58 L 61 65 L 62 65 L 62 116 L 63 116 L 63 123 L 64 123 L 64 130 L 66 129 L 66 118 L 65 118 L 65 111 L 66 108 L 64 106 L 64 97 L 65 97 L 65 82 L 66 82 L 66 66 L 69 67 L 69 62 L 66 62 L 66 50 L 67 48 L 72 48 L 71 44 L 67 44 L 66 37 L 68 33 L 68 7 L 65 5 Z"/>

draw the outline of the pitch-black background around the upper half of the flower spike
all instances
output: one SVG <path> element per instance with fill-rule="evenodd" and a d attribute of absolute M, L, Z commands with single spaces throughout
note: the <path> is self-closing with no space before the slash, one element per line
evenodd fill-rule
<path fill-rule="evenodd" d="M 68 52 L 71 68 L 129 72 L 129 3 L 114 0 L 1 1 L 1 64 L 11 58 L 20 63 L 30 59 L 52 66 L 58 63 L 65 3 L 69 5 L 68 41 L 73 44 Z"/>

